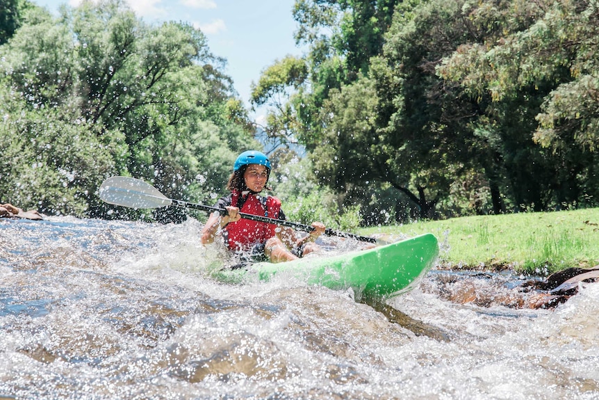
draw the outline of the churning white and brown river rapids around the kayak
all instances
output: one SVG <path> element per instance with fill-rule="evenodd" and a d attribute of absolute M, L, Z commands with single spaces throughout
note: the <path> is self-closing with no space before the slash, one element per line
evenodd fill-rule
<path fill-rule="evenodd" d="M 389 304 L 438 342 L 350 292 L 215 282 L 201 227 L 0 220 L 0 399 L 599 399 L 599 285 L 479 307 L 432 271 Z"/>

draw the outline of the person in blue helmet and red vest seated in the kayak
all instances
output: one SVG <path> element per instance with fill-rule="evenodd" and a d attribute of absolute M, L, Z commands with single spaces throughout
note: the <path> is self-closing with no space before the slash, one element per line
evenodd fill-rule
<path fill-rule="evenodd" d="M 214 212 L 202 230 L 202 243 L 213 243 L 217 234 L 222 234 L 230 250 L 249 255 L 254 261 L 292 261 L 319 249 L 314 243 L 325 225 L 312 223 L 314 230 L 297 239 L 289 227 L 241 218 L 240 212 L 285 220 L 281 201 L 270 195 L 260 195 L 266 189 L 270 176 L 270 160 L 256 150 L 243 152 L 233 165 L 227 189 L 231 193 L 220 198 L 216 207 L 227 209 L 221 216 Z"/>

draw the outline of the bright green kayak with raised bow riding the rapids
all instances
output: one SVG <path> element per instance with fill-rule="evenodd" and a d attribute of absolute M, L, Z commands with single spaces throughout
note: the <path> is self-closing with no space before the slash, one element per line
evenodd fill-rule
<path fill-rule="evenodd" d="M 268 281 L 274 275 L 284 275 L 308 285 L 352 288 L 356 295 L 391 297 L 412 289 L 437 256 L 436 237 L 423 234 L 368 250 L 279 264 L 259 262 L 240 269 L 220 269 L 213 275 L 227 283 Z"/>

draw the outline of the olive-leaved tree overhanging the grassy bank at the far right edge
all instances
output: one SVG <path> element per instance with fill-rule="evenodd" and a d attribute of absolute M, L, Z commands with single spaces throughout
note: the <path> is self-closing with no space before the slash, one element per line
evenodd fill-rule
<path fill-rule="evenodd" d="M 504 18 L 496 17 L 498 10 Z M 439 71 L 479 103 L 487 99 L 486 114 L 503 131 L 502 157 L 516 206 L 540 210 L 586 202 L 591 193 L 583 188 L 589 188 L 596 143 L 596 116 L 585 113 L 596 104 L 589 96 L 595 8 L 584 1 L 512 1 L 503 8 L 484 2 L 472 14 L 479 26 L 500 25 L 500 34 L 462 45 Z"/>

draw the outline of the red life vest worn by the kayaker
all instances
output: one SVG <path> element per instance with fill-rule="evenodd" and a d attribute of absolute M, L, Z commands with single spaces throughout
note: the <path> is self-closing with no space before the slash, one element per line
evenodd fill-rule
<path fill-rule="evenodd" d="M 233 191 L 231 193 L 231 205 L 236 207 L 240 193 Z M 247 199 L 241 206 L 240 212 L 259 216 L 268 216 L 269 218 L 279 218 L 281 211 L 281 200 L 273 196 L 261 197 L 257 194 L 247 195 Z M 274 228 L 277 225 L 272 223 L 263 223 L 241 218 L 237 222 L 229 223 L 224 228 L 227 237 L 227 246 L 231 250 L 249 250 L 256 243 L 265 243 L 271 237 L 274 237 Z"/>

